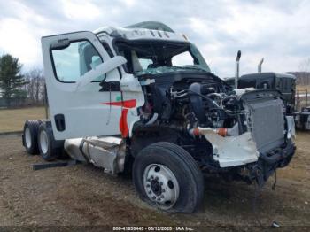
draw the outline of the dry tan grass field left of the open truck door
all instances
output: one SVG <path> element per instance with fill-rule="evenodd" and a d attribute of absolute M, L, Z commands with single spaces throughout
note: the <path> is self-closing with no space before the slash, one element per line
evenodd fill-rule
<path fill-rule="evenodd" d="M 0 110 L 0 133 L 21 131 L 25 120 L 44 119 L 44 115 L 43 107 Z"/>

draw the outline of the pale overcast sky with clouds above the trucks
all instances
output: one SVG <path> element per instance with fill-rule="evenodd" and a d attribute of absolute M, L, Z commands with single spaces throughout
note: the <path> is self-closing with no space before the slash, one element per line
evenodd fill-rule
<path fill-rule="evenodd" d="M 310 58 L 310 1 L 198 0 L 0 0 L 0 55 L 10 53 L 23 70 L 42 67 L 43 35 L 158 20 L 198 45 L 213 73 L 299 71 Z"/>

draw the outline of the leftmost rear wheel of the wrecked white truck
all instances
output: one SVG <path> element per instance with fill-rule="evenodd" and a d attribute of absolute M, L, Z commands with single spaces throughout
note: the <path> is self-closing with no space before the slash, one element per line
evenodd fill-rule
<path fill-rule="evenodd" d="M 35 155 L 39 153 L 37 143 L 38 130 L 38 120 L 26 120 L 22 135 L 22 143 L 28 154 Z"/>

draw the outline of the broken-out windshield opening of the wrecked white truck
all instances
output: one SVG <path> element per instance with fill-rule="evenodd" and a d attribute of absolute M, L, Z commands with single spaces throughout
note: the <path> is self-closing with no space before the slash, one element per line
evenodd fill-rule
<path fill-rule="evenodd" d="M 166 73 L 195 69 L 210 72 L 198 49 L 191 43 L 161 41 L 117 41 L 116 50 L 127 59 L 126 72 Z"/>

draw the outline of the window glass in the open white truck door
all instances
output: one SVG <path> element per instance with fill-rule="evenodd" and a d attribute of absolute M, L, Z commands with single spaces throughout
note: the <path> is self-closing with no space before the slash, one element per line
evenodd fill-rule
<path fill-rule="evenodd" d="M 61 50 L 51 50 L 58 81 L 75 82 L 79 78 L 103 63 L 103 59 L 89 41 L 72 42 Z M 96 81 L 104 79 L 98 76 Z"/>

